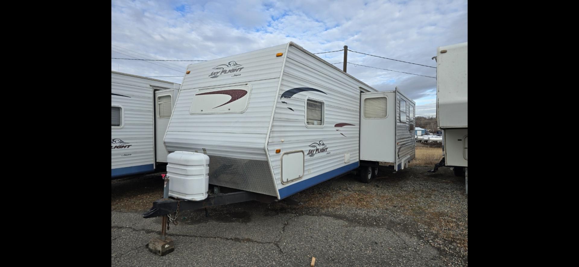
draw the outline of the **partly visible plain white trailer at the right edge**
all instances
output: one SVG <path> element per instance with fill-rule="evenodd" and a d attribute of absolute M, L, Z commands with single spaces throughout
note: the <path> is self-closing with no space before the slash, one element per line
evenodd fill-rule
<path fill-rule="evenodd" d="M 444 158 L 435 166 L 464 175 L 468 193 L 468 43 L 438 47 L 437 122 Z"/>

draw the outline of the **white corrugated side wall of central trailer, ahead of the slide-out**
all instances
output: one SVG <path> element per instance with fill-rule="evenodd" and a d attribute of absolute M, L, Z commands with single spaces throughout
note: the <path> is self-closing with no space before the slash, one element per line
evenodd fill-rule
<path fill-rule="evenodd" d="M 364 86 L 368 90 L 375 90 L 329 67 L 295 46 L 289 47 L 287 57 L 280 92 L 276 97 L 272 131 L 269 144 L 267 144 L 278 189 L 358 161 L 359 87 Z M 297 87 L 310 87 L 321 90 L 325 94 L 306 91 L 294 94 L 291 98 L 281 98 L 284 92 Z M 305 101 L 307 97 L 324 101 L 324 127 L 306 127 Z M 351 126 L 335 127 L 338 123 L 350 123 Z M 284 141 L 281 142 L 281 140 Z M 309 149 L 315 149 L 310 145 L 320 141 L 327 146 L 327 152 L 317 153 L 313 157 L 308 156 Z M 276 149 L 281 149 L 281 153 L 276 153 Z M 302 150 L 305 154 L 303 178 L 283 185 L 281 184 L 281 154 L 295 150 Z M 348 163 L 344 160 L 345 153 L 350 153 Z"/>

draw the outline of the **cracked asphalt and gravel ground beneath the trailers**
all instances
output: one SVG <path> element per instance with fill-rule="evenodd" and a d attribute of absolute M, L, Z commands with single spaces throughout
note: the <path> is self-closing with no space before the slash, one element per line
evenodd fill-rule
<path fill-rule="evenodd" d="M 431 168 L 412 166 L 393 174 L 380 167 L 371 184 L 362 184 L 351 174 L 334 178 L 292 196 L 299 205 L 236 203 L 212 207 L 210 217 L 203 210 L 182 211 L 181 223 L 171 225 L 168 235 L 176 235 L 181 244 L 206 244 L 183 257 L 205 251 L 212 254 L 223 246 L 264 255 L 259 261 L 246 255 L 234 262 L 206 262 L 211 266 L 303 265 L 314 253 L 316 266 L 351 262 L 358 266 L 468 266 L 464 178 L 455 177 L 446 167 L 427 173 Z M 158 234 L 160 218 L 145 220 L 138 215 L 163 195 L 162 184 L 159 174 L 111 182 L 113 265 L 158 264 L 173 254 L 175 262 L 184 261 L 179 255 L 190 248 L 183 245 L 176 244 L 174 253 L 158 259 L 142 248 Z M 192 231 L 203 235 L 190 235 Z M 268 234 L 276 231 L 277 236 Z M 127 247 L 131 250 L 115 253 Z M 351 253 L 342 251 L 345 248 Z M 280 255 L 273 257 L 271 251 Z"/>

